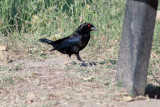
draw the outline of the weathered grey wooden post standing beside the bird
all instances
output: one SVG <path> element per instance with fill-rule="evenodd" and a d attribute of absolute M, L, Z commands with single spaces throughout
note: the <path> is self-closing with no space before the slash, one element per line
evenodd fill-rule
<path fill-rule="evenodd" d="M 144 95 L 158 0 L 128 0 L 116 79 L 130 95 Z"/>

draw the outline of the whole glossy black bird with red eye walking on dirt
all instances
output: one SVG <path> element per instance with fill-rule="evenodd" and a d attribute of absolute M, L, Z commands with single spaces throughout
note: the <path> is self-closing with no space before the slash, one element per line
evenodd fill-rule
<path fill-rule="evenodd" d="M 39 41 L 52 45 L 54 48 L 51 50 L 58 50 L 62 54 L 68 54 L 71 57 L 72 54 L 77 56 L 77 59 L 81 60 L 79 51 L 84 49 L 90 40 L 90 32 L 96 30 L 96 27 L 91 23 L 81 24 L 72 35 L 51 41 L 48 39 L 39 39 Z"/>

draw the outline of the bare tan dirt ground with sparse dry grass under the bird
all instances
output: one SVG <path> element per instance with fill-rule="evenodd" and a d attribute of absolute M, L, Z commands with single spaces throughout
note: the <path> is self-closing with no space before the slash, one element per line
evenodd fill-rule
<path fill-rule="evenodd" d="M 160 107 L 148 97 L 129 97 L 115 82 L 111 61 L 79 62 L 50 55 L 10 55 L 0 62 L 1 107 Z"/>

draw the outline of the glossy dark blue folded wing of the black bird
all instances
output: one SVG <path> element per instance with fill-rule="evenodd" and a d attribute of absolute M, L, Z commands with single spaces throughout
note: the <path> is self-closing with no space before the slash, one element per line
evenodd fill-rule
<path fill-rule="evenodd" d="M 63 49 L 63 48 L 67 48 L 67 47 L 70 47 L 70 46 L 78 45 L 80 40 L 81 40 L 81 36 L 77 36 L 77 37 L 74 37 L 74 38 L 67 38 L 67 39 L 63 40 L 59 45 L 57 45 L 54 48 L 54 50 Z"/>

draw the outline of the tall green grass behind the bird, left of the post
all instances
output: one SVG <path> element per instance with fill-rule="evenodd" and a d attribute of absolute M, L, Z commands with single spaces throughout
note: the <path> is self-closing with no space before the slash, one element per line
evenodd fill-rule
<path fill-rule="evenodd" d="M 125 1 L 4 0 L 0 7 L 0 44 L 8 42 L 14 51 L 33 50 L 42 37 L 68 36 L 84 22 L 98 29 L 90 47 L 110 49 L 117 48 L 121 36 Z M 17 46 L 19 50 L 15 50 Z"/>

